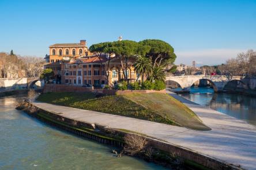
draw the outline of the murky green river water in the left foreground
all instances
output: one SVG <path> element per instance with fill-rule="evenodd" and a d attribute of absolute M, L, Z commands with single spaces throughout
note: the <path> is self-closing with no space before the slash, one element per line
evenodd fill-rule
<path fill-rule="evenodd" d="M 165 169 L 48 126 L 0 98 L 0 169 Z"/>

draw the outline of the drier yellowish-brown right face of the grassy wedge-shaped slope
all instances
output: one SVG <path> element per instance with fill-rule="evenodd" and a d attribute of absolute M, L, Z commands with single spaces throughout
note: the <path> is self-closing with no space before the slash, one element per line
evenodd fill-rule
<path fill-rule="evenodd" d="M 180 126 L 196 130 L 210 130 L 210 128 L 205 126 L 192 110 L 168 94 L 132 93 L 125 95 L 125 97 L 149 110 L 155 111 L 162 117 L 171 119 Z"/>

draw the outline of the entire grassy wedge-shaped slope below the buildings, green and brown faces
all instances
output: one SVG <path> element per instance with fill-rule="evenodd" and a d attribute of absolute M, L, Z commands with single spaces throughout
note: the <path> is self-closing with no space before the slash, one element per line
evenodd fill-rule
<path fill-rule="evenodd" d="M 165 94 L 97 96 L 91 92 L 48 92 L 40 95 L 37 100 L 196 130 L 209 130 L 193 111 Z"/>

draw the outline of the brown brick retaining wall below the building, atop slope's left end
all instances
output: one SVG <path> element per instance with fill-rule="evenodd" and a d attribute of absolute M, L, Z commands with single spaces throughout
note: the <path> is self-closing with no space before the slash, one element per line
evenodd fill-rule
<path fill-rule="evenodd" d="M 66 84 L 45 84 L 43 93 L 46 92 L 92 92 L 93 87 L 69 86 Z"/>

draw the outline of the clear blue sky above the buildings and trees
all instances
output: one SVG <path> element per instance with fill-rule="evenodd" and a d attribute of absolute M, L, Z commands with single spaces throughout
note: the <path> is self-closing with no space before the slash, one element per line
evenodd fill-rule
<path fill-rule="evenodd" d="M 160 39 L 176 64 L 225 63 L 256 51 L 256 0 L 0 0 L 0 52 L 44 57 L 55 43 Z"/>

